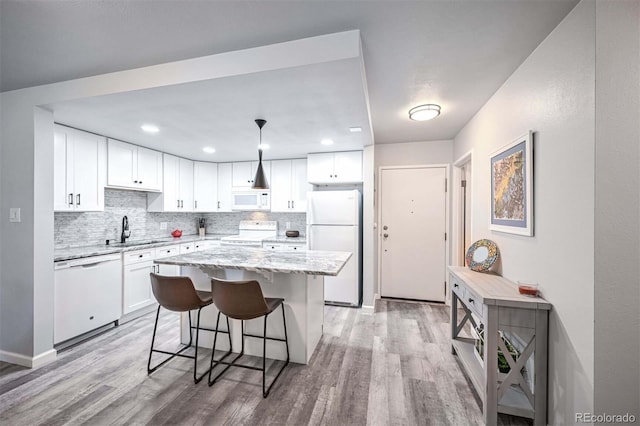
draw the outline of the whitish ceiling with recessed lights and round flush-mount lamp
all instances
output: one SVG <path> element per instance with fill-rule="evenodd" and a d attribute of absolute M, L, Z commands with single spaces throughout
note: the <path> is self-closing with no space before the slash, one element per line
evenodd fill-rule
<path fill-rule="evenodd" d="M 1 0 L 0 89 L 359 29 L 366 82 L 353 61 L 336 61 L 67 102 L 53 106 L 55 117 L 209 161 L 254 159 L 255 118 L 268 121 L 265 158 L 359 149 L 371 139 L 453 139 L 576 3 Z M 421 103 L 442 114 L 409 120 Z M 143 121 L 161 132 L 142 133 Z M 323 137 L 335 144 L 320 145 Z M 204 145 L 217 152 L 204 154 Z"/>

